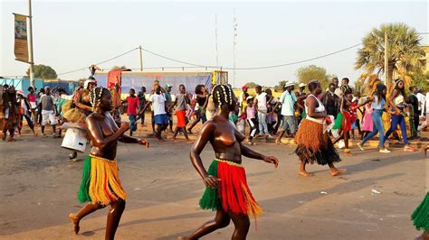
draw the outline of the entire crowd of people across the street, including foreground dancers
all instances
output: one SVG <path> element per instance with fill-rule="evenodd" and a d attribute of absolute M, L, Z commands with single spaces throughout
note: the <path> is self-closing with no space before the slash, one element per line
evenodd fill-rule
<path fill-rule="evenodd" d="M 61 137 L 62 128 L 57 129 L 58 124 L 84 125 L 91 140 L 91 152 L 83 164 L 78 198 L 88 203 L 77 213 L 71 213 L 69 218 L 73 231 L 78 234 L 81 218 L 109 206 L 106 239 L 112 239 L 127 198 L 119 180 L 118 142 L 139 143 L 148 148 L 148 140 L 132 135 L 138 129 L 138 120 L 144 125 L 145 112 L 149 107 L 152 131 L 159 141 L 165 141 L 163 132 L 169 131 L 173 134 L 172 139 L 176 139 L 180 132 L 187 142 L 191 142 L 188 134 L 192 134 L 195 125 L 201 121 L 204 125 L 191 147 L 190 158 L 206 185 L 200 207 L 216 210 L 216 216 L 184 239 L 207 235 L 228 226 L 231 220 L 235 227 L 233 238 L 243 239 L 249 230 L 249 217 L 257 217 L 262 209 L 247 184 L 241 156 L 272 163 L 275 167 L 279 164 L 274 156 L 254 152 L 244 146 L 243 141 L 252 145 L 256 137 L 268 139 L 281 129 L 275 142 L 281 143 L 285 134 L 294 138 L 297 144 L 294 153 L 300 160 L 298 172 L 301 176 L 312 175 L 306 170 L 309 163 L 328 165 L 332 176 L 346 172 L 334 165 L 341 162 L 334 144 L 342 143 L 344 152 L 351 154 L 348 140 L 356 138 L 355 130 L 361 139 L 358 143 L 360 150 L 364 151 L 364 144 L 378 134 L 379 151 L 386 153 L 390 152 L 385 145 L 386 140 L 399 125 L 404 150 L 415 151 L 408 143 L 406 130 L 411 132 L 411 137 L 418 137 L 418 132 L 429 121 L 427 118 L 420 121 L 420 115 L 428 114 L 425 107 L 429 108 L 425 103 L 429 97 L 422 97 L 422 89 L 412 87 L 411 94 L 407 95 L 404 80 L 398 78 L 392 93 L 387 95 L 386 86 L 377 80 L 374 86 L 367 87 L 372 90 L 364 98 L 348 83 L 348 78 L 343 78 L 339 86 L 338 78 L 333 78 L 329 88 L 323 90 L 319 81 L 313 80 L 307 85 L 300 83 L 298 91 L 295 91 L 295 83 L 287 82 L 281 97 L 276 98 L 271 89 L 263 90 L 261 86 L 255 88 L 255 96 L 250 96 L 244 86 L 240 96 L 235 97 L 229 85 L 214 85 L 210 89 L 198 85 L 195 94 L 189 94 L 185 85 L 180 85 L 179 93 L 173 96 L 171 85 L 162 88 L 158 81 L 154 81 L 148 98 L 146 88 L 141 88 L 138 94 L 131 88 L 123 101 L 118 85 L 109 89 L 97 87 L 93 77 L 81 82 L 70 96 L 63 88 L 45 87 L 38 94 L 35 94 L 36 89 L 28 88 L 29 94 L 25 95 L 13 86 L 5 85 L 0 89 L 4 119 L 2 137 L 5 140 L 9 134 L 9 141 L 13 142 L 14 134 L 21 134 L 24 119 L 35 136 L 38 134 L 35 125 L 41 126 L 42 134 L 45 125 L 51 125 L 53 137 Z M 125 113 L 129 116 L 129 123 L 121 119 Z M 391 117 L 386 134 L 383 115 Z M 129 135 L 125 134 L 128 131 Z M 200 153 L 207 143 L 211 143 L 215 150 L 215 160 L 205 170 Z M 71 156 L 75 157 L 75 154 L 73 152 Z M 412 216 L 417 229 L 425 230 L 423 237 L 429 235 L 428 200 L 426 195 Z"/>

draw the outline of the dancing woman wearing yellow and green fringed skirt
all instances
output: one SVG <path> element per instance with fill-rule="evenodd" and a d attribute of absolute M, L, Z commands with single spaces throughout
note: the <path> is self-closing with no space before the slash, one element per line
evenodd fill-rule
<path fill-rule="evenodd" d="M 120 184 L 116 151 L 118 141 L 123 143 L 139 143 L 149 147 L 146 139 L 137 139 L 126 134 L 128 123 L 120 128 L 110 115 L 112 99 L 109 89 L 94 88 L 91 93 L 91 104 L 94 113 L 87 117 L 88 134 L 92 140 L 90 155 L 83 164 L 79 201 L 90 202 L 76 214 L 70 214 L 75 234 L 79 233 L 82 217 L 110 206 L 106 226 L 105 239 L 113 239 L 119 225 L 120 217 L 125 209 L 127 194 Z"/>

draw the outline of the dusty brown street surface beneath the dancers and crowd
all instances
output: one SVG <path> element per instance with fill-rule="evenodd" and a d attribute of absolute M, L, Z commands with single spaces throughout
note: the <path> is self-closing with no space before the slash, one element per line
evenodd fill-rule
<path fill-rule="evenodd" d="M 0 143 L 0 238 L 102 239 L 108 209 L 81 221 L 71 232 L 67 215 L 82 207 L 76 198 L 83 162 L 68 160 L 61 139 L 25 135 Z M 176 239 L 214 217 L 198 208 L 205 189 L 189 161 L 189 144 L 157 143 L 147 151 L 119 144 L 119 175 L 129 193 L 117 239 Z M 347 174 L 333 178 L 327 167 L 311 165 L 313 177 L 297 175 L 294 146 L 257 144 L 277 156 L 278 169 L 243 158 L 250 188 L 264 210 L 249 239 L 413 239 L 410 215 L 428 189 L 428 164 L 421 152 L 382 154 L 375 149 L 342 155 Z M 80 158 L 85 154 L 81 153 Z M 203 152 L 205 166 L 214 157 Z M 377 189 L 381 193 L 372 193 Z M 229 239 L 234 226 L 206 239 Z"/>

